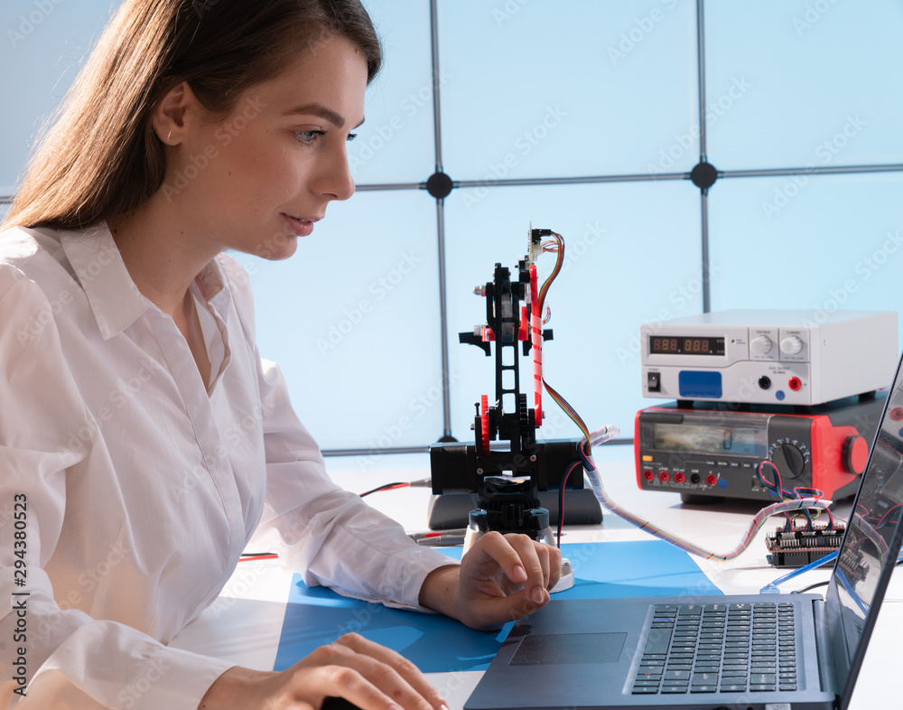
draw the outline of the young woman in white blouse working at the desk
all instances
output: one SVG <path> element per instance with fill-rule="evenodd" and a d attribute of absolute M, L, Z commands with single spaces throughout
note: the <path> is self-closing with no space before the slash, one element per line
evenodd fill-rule
<path fill-rule="evenodd" d="M 442 706 L 355 635 L 282 673 L 168 648 L 261 530 L 309 584 L 474 628 L 548 601 L 554 548 L 450 565 L 329 481 L 223 254 L 290 257 L 351 196 L 379 64 L 357 0 L 126 0 L 100 38 L 0 235 L 0 705 Z"/>

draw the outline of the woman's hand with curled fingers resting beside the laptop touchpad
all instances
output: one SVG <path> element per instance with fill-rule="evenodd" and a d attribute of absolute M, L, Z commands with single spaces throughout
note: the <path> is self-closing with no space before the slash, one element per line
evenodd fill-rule
<path fill-rule="evenodd" d="M 526 535 L 489 532 L 470 547 L 460 567 L 440 567 L 426 576 L 420 603 L 472 629 L 498 629 L 547 603 L 561 569 L 557 547 Z"/>

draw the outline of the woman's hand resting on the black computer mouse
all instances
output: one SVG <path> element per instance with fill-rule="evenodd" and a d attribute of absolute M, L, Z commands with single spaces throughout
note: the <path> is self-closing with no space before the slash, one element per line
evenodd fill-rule
<path fill-rule="evenodd" d="M 361 710 L 448 710 L 411 661 L 355 633 L 281 673 L 229 668 L 198 708 L 318 710 L 330 696 L 344 697 Z"/>

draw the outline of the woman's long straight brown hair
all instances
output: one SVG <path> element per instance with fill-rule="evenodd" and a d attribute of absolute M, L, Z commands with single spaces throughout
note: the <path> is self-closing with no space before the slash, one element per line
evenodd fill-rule
<path fill-rule="evenodd" d="M 340 35 L 382 61 L 359 0 L 126 0 L 40 140 L 0 228 L 83 229 L 125 214 L 163 184 L 151 117 L 187 81 L 213 116 Z"/>

